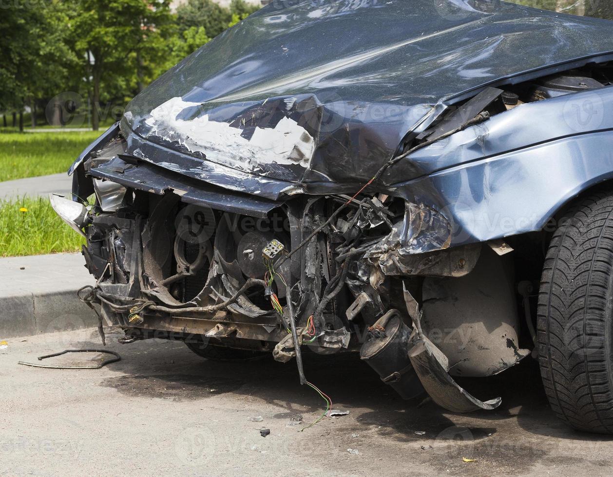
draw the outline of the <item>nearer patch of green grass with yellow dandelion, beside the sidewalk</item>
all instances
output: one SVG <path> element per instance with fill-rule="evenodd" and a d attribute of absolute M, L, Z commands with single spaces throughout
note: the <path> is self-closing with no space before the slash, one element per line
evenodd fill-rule
<path fill-rule="evenodd" d="M 47 198 L 0 200 L 1 257 L 76 252 L 84 243 L 85 238 L 57 216 Z"/>

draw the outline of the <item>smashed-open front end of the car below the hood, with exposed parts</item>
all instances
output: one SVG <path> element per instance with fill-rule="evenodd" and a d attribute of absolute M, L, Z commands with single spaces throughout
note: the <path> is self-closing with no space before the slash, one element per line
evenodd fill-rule
<path fill-rule="evenodd" d="M 200 190 L 127 154 L 118 128 L 112 131 L 75 171 L 75 197 L 93 190 L 93 204 L 58 195 L 51 201 L 85 231 L 83 255 L 97 282 L 80 298 L 99 305 L 101 320 L 123 329 L 124 342 L 180 339 L 268 351 L 279 361 L 294 358 L 296 342 L 325 354 L 359 350 L 366 342 L 369 363 L 378 348 L 400 347 L 415 355 L 405 353 L 401 368 L 377 369 L 403 396 L 425 387 L 440 394 L 436 402 L 449 400 L 448 408 L 458 400 L 465 411 L 491 406 L 447 374 L 449 360 L 420 331 L 419 305 L 407 289 L 421 294 L 422 277 L 462 277 L 479 260 L 481 244 L 449 248 L 452 227 L 442 214 L 383 192 L 264 201 Z M 406 340 L 386 334 L 392 322 Z M 490 353 L 496 360 L 490 367 L 499 372 L 525 353 L 516 351 L 512 321 L 496 328 L 505 341 L 499 355 Z M 492 346 L 489 334 L 481 339 Z M 403 375 L 413 368 L 419 380 L 407 381 Z M 451 400 L 444 397 L 450 393 Z"/>

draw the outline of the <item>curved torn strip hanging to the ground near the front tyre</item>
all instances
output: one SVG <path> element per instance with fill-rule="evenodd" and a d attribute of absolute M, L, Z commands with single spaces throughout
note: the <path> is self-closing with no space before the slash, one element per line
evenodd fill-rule
<path fill-rule="evenodd" d="M 424 336 L 421 327 L 421 312 L 414 306 L 416 301 L 413 296 L 404 286 L 403 289 L 406 308 L 414 325 L 411 335 L 413 348 L 409 351 L 409 359 L 411 359 L 413 369 L 422 386 L 432 400 L 440 407 L 455 413 L 497 408 L 502 402 L 500 397 L 485 402 L 481 401 L 460 387 L 449 375 L 449 360 L 432 341 Z"/>

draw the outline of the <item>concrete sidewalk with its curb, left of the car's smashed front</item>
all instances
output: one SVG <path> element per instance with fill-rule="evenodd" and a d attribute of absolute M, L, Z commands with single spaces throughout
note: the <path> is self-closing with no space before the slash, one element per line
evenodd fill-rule
<path fill-rule="evenodd" d="M 76 292 L 94 279 L 81 254 L 0 258 L 0 339 L 97 324 Z"/>

